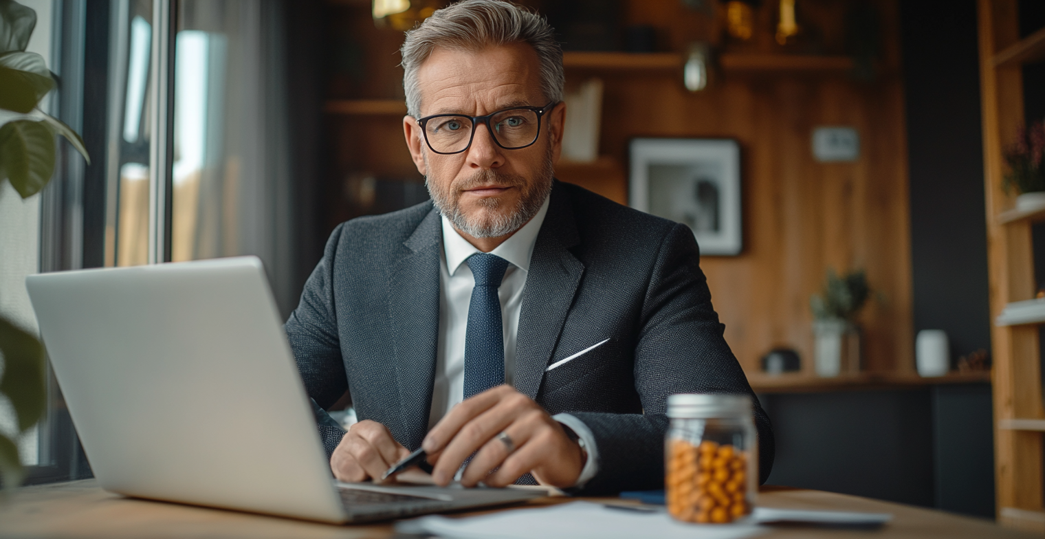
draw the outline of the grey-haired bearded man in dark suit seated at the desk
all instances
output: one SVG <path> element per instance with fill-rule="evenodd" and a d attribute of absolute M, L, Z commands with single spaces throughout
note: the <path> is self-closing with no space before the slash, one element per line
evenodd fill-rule
<path fill-rule="evenodd" d="M 439 485 L 660 488 L 669 395 L 754 399 L 693 233 L 553 179 L 562 52 L 539 17 L 452 4 L 402 65 L 432 202 L 339 226 L 286 323 L 334 476 L 377 481 L 422 446 Z M 346 390 L 343 432 L 323 407 Z"/>

